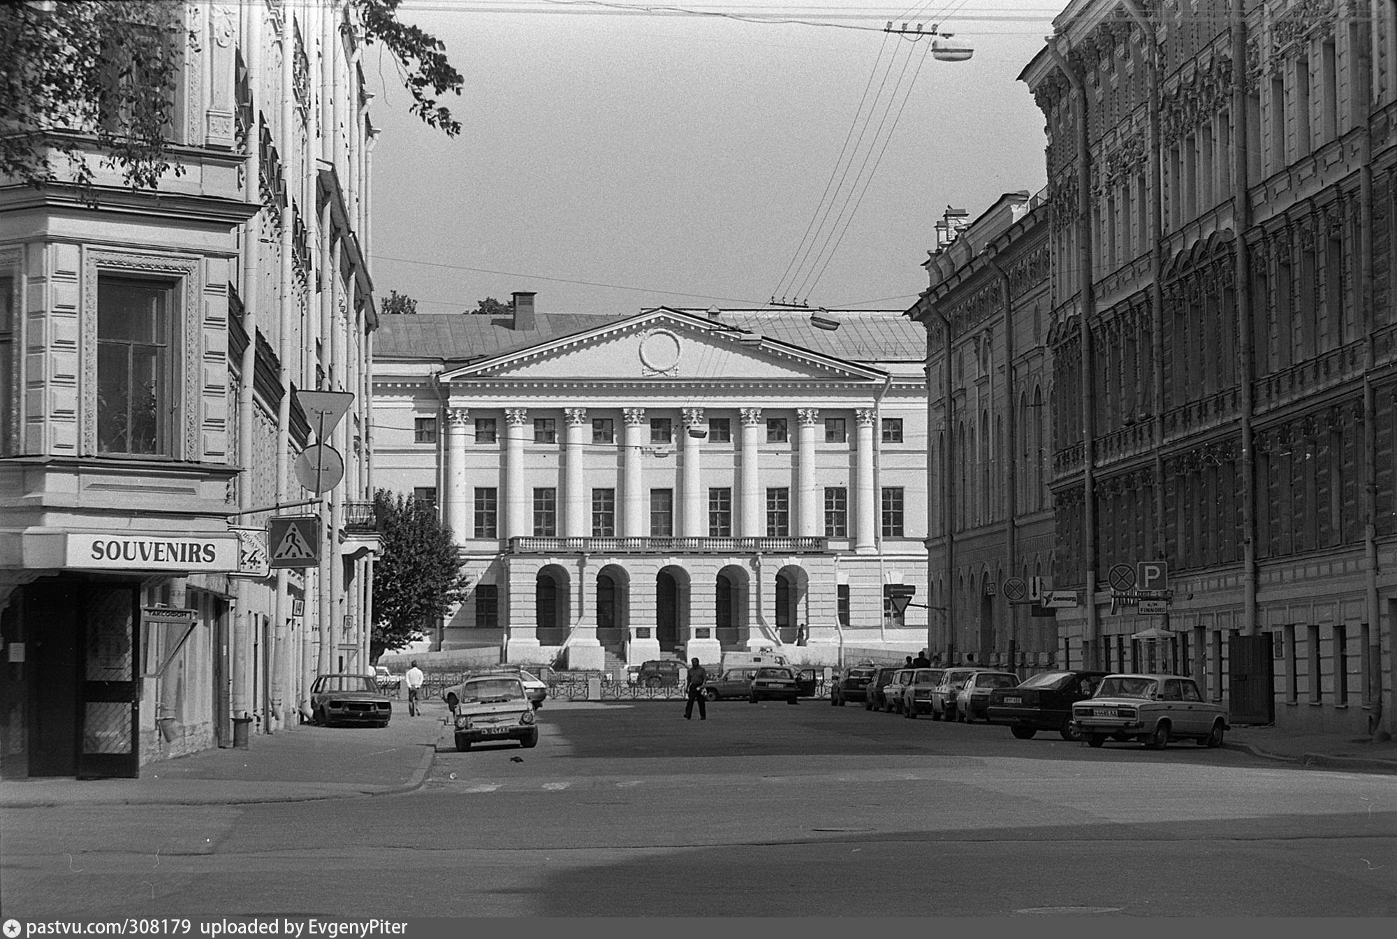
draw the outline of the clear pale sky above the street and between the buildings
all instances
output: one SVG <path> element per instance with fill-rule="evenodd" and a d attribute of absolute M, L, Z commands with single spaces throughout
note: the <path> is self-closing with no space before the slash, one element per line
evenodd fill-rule
<path fill-rule="evenodd" d="M 907 309 L 947 205 L 1044 187 L 1017 78 L 1065 6 L 404 0 L 465 78 L 441 102 L 462 131 L 411 115 L 367 50 L 376 292 L 422 313 L 515 291 L 549 313 Z M 936 60 L 890 20 L 974 56 Z"/>

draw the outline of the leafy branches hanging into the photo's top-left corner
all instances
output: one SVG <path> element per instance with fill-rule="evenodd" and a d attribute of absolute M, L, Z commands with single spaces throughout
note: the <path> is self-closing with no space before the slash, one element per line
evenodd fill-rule
<path fill-rule="evenodd" d="M 448 137 L 461 124 L 437 102 L 461 94 L 446 45 L 398 21 L 401 0 L 348 0 L 363 42 L 383 43 L 412 95 L 412 113 Z M 154 190 L 173 162 L 166 131 L 184 49 L 183 0 L 29 0 L 0 3 L 0 179 L 77 187 L 96 203 L 88 154 L 120 169 L 133 190 Z"/>

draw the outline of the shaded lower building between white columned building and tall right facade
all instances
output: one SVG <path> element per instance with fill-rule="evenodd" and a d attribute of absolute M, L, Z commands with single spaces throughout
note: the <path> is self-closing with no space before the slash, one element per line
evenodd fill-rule
<path fill-rule="evenodd" d="M 930 286 L 908 310 L 928 334 L 932 646 L 947 662 L 1030 671 L 1058 651 L 1052 613 L 1031 601 L 1056 534 L 1048 214 L 1042 194 L 1006 193 L 961 215 L 937 224 Z"/>

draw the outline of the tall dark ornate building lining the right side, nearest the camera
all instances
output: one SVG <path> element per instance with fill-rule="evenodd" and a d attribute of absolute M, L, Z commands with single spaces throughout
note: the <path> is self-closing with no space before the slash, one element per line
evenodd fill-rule
<path fill-rule="evenodd" d="M 1397 14 L 1083 0 L 1021 78 L 1048 130 L 1052 573 L 1081 598 L 1060 658 L 1390 731 Z"/>

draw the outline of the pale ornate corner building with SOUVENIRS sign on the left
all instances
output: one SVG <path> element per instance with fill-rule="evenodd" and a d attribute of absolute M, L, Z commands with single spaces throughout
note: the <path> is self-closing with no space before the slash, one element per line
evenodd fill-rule
<path fill-rule="evenodd" d="M 133 190 L 95 155 L 95 203 L 0 180 L 6 780 L 138 776 L 295 724 L 317 671 L 367 669 L 376 131 L 353 11 L 173 8 L 182 175 Z M 305 391 L 352 404 L 317 429 Z M 310 443 L 341 478 L 275 509 L 316 499 Z M 303 517 L 310 566 L 270 558 L 272 514 Z"/>

